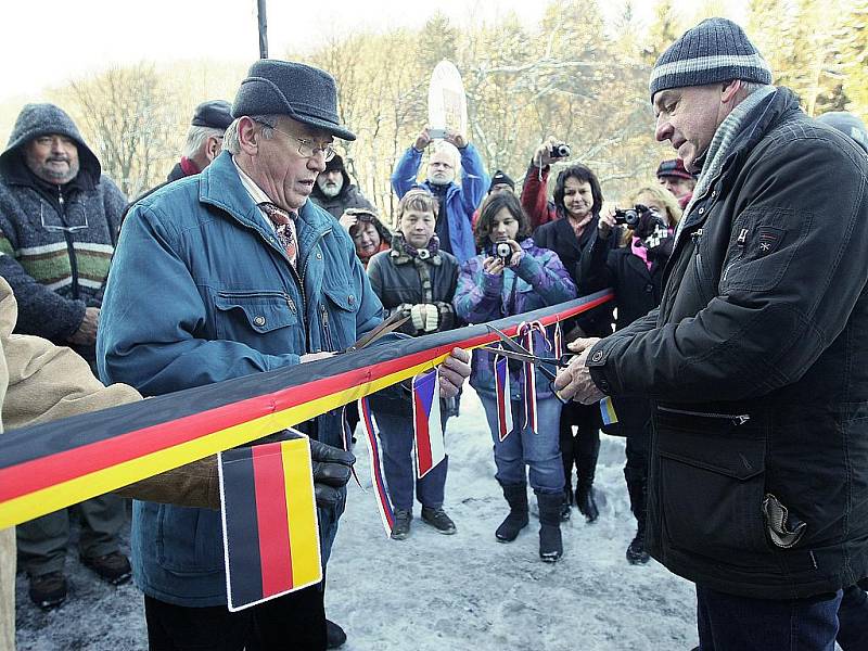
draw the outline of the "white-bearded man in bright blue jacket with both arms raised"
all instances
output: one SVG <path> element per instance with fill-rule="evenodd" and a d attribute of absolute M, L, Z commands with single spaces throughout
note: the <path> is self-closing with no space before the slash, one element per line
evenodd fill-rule
<path fill-rule="evenodd" d="M 392 189 L 398 199 L 418 186 L 417 177 L 422 165 L 422 153 L 431 144 L 431 129 L 425 127 L 404 153 L 392 174 Z M 488 190 L 488 175 L 480 154 L 461 133 L 446 129 L 444 140 L 433 148 L 427 162 L 427 179 L 421 183 L 439 200 L 439 210 L 434 232 L 442 251 L 451 253 L 458 261 L 476 255 L 473 240 L 473 213 Z M 458 154 L 455 154 L 455 150 Z M 461 163 L 461 186 L 455 182 L 456 163 Z"/>

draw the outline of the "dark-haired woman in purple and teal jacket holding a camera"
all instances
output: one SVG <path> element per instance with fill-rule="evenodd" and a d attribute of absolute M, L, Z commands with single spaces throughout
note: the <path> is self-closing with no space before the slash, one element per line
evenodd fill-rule
<path fill-rule="evenodd" d="M 529 234 L 529 220 L 514 194 L 501 192 L 485 200 L 475 230 L 476 246 L 483 253 L 464 263 L 458 278 L 455 308 L 459 318 L 485 323 L 575 298 L 575 285 L 558 255 L 537 247 Z M 511 253 L 506 260 L 495 255 L 498 243 L 509 245 Z M 549 341 L 552 334 L 548 333 Z M 535 349 L 541 349 L 542 345 L 541 333 L 537 333 Z M 521 365 L 510 365 L 509 379 L 513 427 L 500 441 L 494 358 L 484 350 L 474 350 L 470 384 L 485 408 L 495 443 L 495 476 L 510 507 L 495 536 L 500 542 L 510 542 L 527 526 L 525 465 L 528 465 L 531 487 L 539 503 L 539 556 L 544 561 L 554 562 L 563 554 L 560 503 L 564 478 L 558 446 L 561 404 L 551 393 L 548 380 L 536 373 L 534 432 L 525 423 Z"/>

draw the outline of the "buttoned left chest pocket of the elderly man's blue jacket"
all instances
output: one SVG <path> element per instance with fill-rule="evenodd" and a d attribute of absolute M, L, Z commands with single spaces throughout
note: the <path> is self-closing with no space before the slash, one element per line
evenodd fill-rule
<path fill-rule="evenodd" d="M 282 292 L 217 292 L 217 339 L 251 343 L 258 335 L 298 326 L 297 307 Z"/>

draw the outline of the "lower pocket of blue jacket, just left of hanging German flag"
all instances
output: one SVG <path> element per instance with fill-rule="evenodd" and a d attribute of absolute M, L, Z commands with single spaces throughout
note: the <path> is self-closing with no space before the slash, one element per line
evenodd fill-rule
<path fill-rule="evenodd" d="M 175 574 L 191 576 L 222 570 L 219 511 L 159 505 L 156 547 L 157 563 Z"/>

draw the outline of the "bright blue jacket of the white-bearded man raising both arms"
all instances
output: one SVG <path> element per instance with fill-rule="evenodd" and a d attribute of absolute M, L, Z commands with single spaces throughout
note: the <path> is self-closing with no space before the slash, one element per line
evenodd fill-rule
<path fill-rule="evenodd" d="M 469 260 L 476 255 L 476 244 L 473 241 L 473 213 L 488 190 L 490 179 L 485 173 L 482 158 L 472 144 L 458 150 L 461 153 L 461 186 L 449 183 L 446 190 L 446 215 L 449 219 L 449 244 L 452 255 L 459 263 Z M 419 166 L 422 164 L 422 152 L 410 146 L 398 161 L 392 174 L 392 189 L 398 199 L 401 199 L 410 188 L 422 186 L 431 190 L 427 181 L 419 183 Z"/>

